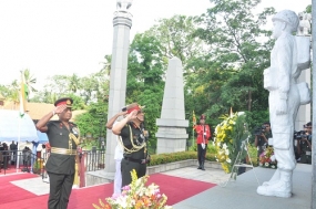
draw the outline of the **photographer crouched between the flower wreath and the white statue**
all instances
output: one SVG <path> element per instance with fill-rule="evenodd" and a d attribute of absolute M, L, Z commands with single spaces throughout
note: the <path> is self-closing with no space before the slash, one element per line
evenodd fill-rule
<path fill-rule="evenodd" d="M 255 146 L 257 147 L 258 157 L 259 157 L 259 155 L 268 146 L 268 138 L 272 137 L 269 122 L 265 122 L 261 127 L 256 128 L 254 134 L 255 134 Z"/>

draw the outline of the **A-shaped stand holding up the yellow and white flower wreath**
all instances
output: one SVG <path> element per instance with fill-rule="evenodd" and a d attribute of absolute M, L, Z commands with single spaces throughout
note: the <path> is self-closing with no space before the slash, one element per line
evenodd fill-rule
<path fill-rule="evenodd" d="M 235 170 L 238 169 L 239 167 L 252 168 L 252 170 L 253 170 L 253 173 L 254 173 L 254 176 L 255 176 L 255 178 L 256 178 L 256 180 L 257 180 L 257 182 L 258 182 L 258 186 L 259 186 L 259 180 L 258 180 L 257 175 L 256 175 L 256 173 L 255 173 L 254 165 L 253 165 L 253 161 L 252 161 L 249 151 L 248 151 L 248 146 L 247 146 L 247 145 L 249 144 L 248 139 L 249 139 L 249 137 L 247 137 L 246 139 L 244 139 L 244 140 L 242 142 L 241 150 L 238 151 L 237 157 L 236 157 L 236 159 L 235 159 L 235 163 L 234 163 L 234 165 L 233 165 L 231 176 L 230 176 L 228 180 L 226 180 L 226 181 L 224 181 L 224 182 L 220 182 L 220 184 L 218 184 L 220 187 L 226 187 L 230 181 L 235 181 L 236 178 L 237 178 L 237 173 L 236 173 Z M 241 157 L 242 157 L 243 151 L 246 151 L 251 165 L 242 163 Z"/>

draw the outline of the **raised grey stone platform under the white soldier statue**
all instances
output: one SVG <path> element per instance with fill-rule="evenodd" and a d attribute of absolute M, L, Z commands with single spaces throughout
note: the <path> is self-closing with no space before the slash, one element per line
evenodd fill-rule
<path fill-rule="evenodd" d="M 256 194 L 259 184 L 268 180 L 274 169 L 256 167 L 230 181 L 216 186 L 173 206 L 174 209 L 309 209 L 312 201 L 312 165 L 297 164 L 293 174 L 290 198 L 265 197 Z M 256 175 L 256 176 L 255 176 Z"/>

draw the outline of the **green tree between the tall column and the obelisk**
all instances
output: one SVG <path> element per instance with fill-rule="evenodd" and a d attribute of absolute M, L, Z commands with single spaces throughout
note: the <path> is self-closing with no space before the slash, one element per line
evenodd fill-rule
<path fill-rule="evenodd" d="M 130 50 L 126 84 L 126 104 L 145 105 L 145 126 L 150 130 L 150 146 L 156 146 L 157 127 L 163 98 L 163 75 L 166 63 L 162 46 L 155 36 L 136 34 Z"/>

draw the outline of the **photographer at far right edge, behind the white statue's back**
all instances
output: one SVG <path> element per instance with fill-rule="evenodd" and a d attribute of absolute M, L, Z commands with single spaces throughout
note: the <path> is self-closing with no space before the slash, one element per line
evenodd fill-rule
<path fill-rule="evenodd" d="M 312 164 L 312 122 L 306 124 L 307 132 L 302 135 L 297 143 L 297 151 L 300 155 L 300 164 Z"/>

